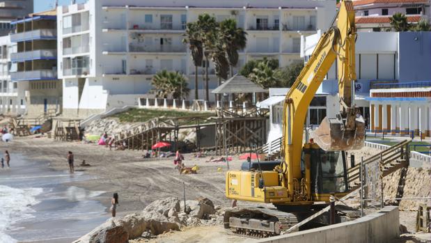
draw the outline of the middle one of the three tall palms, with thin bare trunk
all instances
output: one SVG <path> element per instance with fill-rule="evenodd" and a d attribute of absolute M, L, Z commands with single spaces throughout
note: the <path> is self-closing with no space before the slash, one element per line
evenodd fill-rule
<path fill-rule="evenodd" d="M 204 13 L 203 15 L 198 16 L 196 25 L 203 43 L 203 55 L 205 56 L 205 100 L 209 100 L 210 92 L 208 90 L 208 65 L 210 62 L 208 61 L 208 58 L 210 58 L 210 49 L 213 45 L 212 41 L 214 40 L 214 36 L 216 36 L 218 24 L 214 17 Z"/>

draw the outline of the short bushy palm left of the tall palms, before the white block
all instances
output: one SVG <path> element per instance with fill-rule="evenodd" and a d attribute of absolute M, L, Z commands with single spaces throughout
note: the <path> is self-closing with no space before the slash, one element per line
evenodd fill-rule
<path fill-rule="evenodd" d="M 156 97 L 181 99 L 189 95 L 187 80 L 180 72 L 168 72 L 162 70 L 152 77 L 151 85 L 155 90 Z"/>

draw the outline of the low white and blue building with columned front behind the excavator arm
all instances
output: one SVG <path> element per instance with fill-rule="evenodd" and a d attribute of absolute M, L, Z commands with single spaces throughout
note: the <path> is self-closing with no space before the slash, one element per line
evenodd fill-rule
<path fill-rule="evenodd" d="M 320 33 L 303 38 L 301 55 L 304 58 L 312 54 L 319 37 Z M 355 104 L 361 109 L 368 130 L 395 131 L 398 127 L 398 133 L 416 130 L 429 134 L 430 43 L 429 31 L 358 33 Z M 336 81 L 337 78 L 334 63 L 327 74 L 327 81 Z M 338 92 L 336 87 L 334 92 Z M 389 111 L 391 109 L 395 110 Z M 391 120 L 388 114 L 398 115 L 388 123 Z"/>

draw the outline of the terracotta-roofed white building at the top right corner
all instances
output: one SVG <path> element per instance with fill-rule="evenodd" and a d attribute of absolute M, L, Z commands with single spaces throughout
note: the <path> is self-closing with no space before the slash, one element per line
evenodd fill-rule
<path fill-rule="evenodd" d="M 431 22 L 429 0 L 356 0 L 353 5 L 358 31 L 386 31 L 394 13 L 405 14 L 409 24 L 421 19 Z"/>

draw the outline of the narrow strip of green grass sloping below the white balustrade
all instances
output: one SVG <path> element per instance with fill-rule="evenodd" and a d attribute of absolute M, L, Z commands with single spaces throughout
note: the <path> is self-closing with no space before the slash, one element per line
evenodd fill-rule
<path fill-rule="evenodd" d="M 175 111 L 168 109 L 130 109 L 125 112 L 116 113 L 111 117 L 118 118 L 121 123 L 138 123 L 146 122 L 147 120 L 151 120 L 152 118 L 162 116 L 166 118 L 183 116 L 203 116 L 205 118 L 209 118 L 211 116 L 215 116 L 215 113 L 203 111 Z"/>

